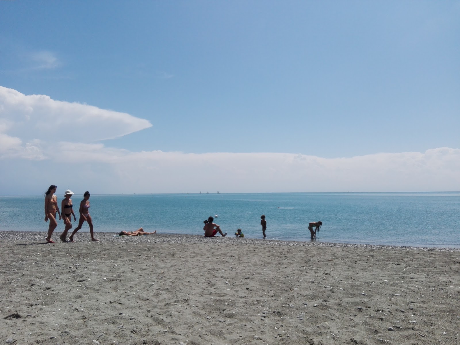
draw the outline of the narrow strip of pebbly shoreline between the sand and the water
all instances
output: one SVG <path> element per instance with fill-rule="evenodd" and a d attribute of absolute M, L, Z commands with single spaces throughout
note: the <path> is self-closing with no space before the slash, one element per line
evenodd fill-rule
<path fill-rule="evenodd" d="M 59 234 L 62 231 L 54 231 L 52 235 L 53 241 L 56 244 L 69 244 L 59 240 Z M 189 235 L 189 234 L 168 234 L 168 233 L 156 233 L 155 235 L 145 236 L 117 236 L 117 232 L 95 232 L 95 237 L 103 242 L 131 242 L 137 240 L 138 242 L 147 243 L 209 243 L 210 241 L 216 243 L 241 243 L 241 244 L 254 244 L 254 245 L 276 245 L 276 246 L 300 246 L 300 247 L 359 247 L 368 249 L 411 249 L 411 250 L 423 250 L 423 251 L 434 251 L 434 252 L 452 252 L 460 253 L 460 248 L 455 247 L 414 247 L 414 246 L 394 246 L 394 245 L 380 245 L 380 244 L 362 244 L 362 243 L 336 243 L 336 242 L 311 242 L 309 241 L 285 241 L 285 240 L 270 240 L 270 239 L 256 239 L 256 238 L 236 238 L 227 234 L 227 236 L 215 236 L 215 237 L 204 237 L 201 235 Z M 20 235 L 20 236 L 19 236 Z M 13 231 L 13 230 L 1 230 L 0 231 L 0 243 L 1 242 L 38 242 L 48 244 L 44 241 L 47 236 L 46 231 Z M 89 239 L 89 240 L 88 240 Z M 75 235 L 75 243 L 91 242 L 89 237 L 89 231 L 80 231 Z"/>

